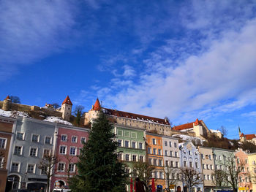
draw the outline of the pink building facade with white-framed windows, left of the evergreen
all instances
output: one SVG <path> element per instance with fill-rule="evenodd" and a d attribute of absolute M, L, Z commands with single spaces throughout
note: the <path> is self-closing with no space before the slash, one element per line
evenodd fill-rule
<path fill-rule="evenodd" d="M 76 163 L 83 142 L 89 139 L 89 129 L 75 126 L 59 126 L 56 133 L 56 147 L 54 154 L 58 157 L 58 164 L 54 166 L 54 176 L 51 178 L 50 188 L 68 186 L 69 178 L 78 172 Z"/>

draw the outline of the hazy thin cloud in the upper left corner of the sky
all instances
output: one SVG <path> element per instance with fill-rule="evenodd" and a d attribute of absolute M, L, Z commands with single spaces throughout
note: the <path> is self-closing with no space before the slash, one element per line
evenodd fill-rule
<path fill-rule="evenodd" d="M 75 37 L 70 1 L 0 1 L 0 7 L 0 80 L 20 65 L 65 49 Z"/>

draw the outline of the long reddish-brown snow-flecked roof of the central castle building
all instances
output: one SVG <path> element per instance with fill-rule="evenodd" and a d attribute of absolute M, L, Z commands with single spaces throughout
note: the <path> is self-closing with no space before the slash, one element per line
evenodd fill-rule
<path fill-rule="evenodd" d="M 121 117 L 121 118 L 129 118 L 129 119 L 134 119 L 134 120 L 144 120 L 144 121 L 148 121 L 149 123 L 159 123 L 159 124 L 164 124 L 164 125 L 170 126 L 170 123 L 168 122 L 168 120 L 165 121 L 165 119 L 152 118 L 152 117 L 145 116 L 145 115 L 138 115 L 135 113 L 123 112 L 123 111 L 118 111 L 118 110 L 110 110 L 107 108 L 103 108 L 103 109 L 105 110 L 105 113 L 107 113 L 108 115 L 113 115 L 113 116 Z"/>

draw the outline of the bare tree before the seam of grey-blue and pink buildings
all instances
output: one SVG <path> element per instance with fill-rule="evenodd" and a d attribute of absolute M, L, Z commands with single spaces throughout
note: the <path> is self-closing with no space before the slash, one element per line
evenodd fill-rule
<path fill-rule="evenodd" d="M 44 155 L 38 164 L 38 168 L 42 170 L 42 174 L 47 177 L 47 192 L 50 191 L 50 178 L 54 175 L 53 167 L 58 164 L 58 158 L 55 155 Z"/>

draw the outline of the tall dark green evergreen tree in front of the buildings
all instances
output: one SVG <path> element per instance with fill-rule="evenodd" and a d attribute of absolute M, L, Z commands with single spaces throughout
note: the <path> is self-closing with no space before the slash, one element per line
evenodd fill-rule
<path fill-rule="evenodd" d="M 117 160 L 117 142 L 112 131 L 108 118 L 100 112 L 92 124 L 89 141 L 81 150 L 78 174 L 69 185 L 72 191 L 125 191 L 127 173 L 124 164 Z"/>

